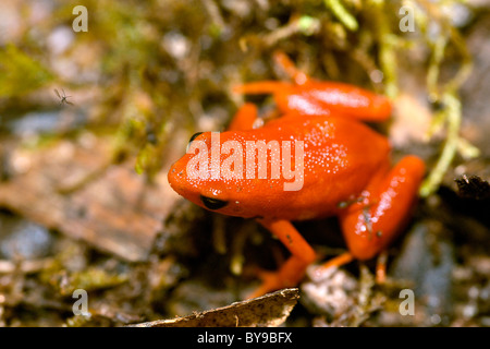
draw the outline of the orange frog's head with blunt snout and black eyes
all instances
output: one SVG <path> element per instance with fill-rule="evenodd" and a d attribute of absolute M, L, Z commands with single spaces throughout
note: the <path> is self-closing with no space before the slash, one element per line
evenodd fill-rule
<path fill-rule="evenodd" d="M 244 143 L 232 131 L 196 133 L 189 140 L 187 153 L 170 168 L 170 185 L 206 209 L 245 218 L 260 216 L 255 197 L 257 183 L 244 179 L 245 170 L 238 169 L 244 156 L 232 149 L 233 146 L 244 148 Z"/>

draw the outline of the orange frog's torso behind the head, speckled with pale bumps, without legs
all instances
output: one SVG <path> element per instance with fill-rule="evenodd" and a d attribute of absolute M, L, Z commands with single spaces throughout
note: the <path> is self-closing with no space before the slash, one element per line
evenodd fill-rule
<path fill-rule="evenodd" d="M 390 145 L 383 135 L 344 117 L 283 117 L 254 133 L 266 142 L 303 141 L 302 188 L 256 188 L 260 197 L 269 191 L 267 196 L 273 200 L 267 202 L 266 212 L 277 218 L 302 220 L 335 214 L 339 204 L 357 197 L 389 159 Z"/>

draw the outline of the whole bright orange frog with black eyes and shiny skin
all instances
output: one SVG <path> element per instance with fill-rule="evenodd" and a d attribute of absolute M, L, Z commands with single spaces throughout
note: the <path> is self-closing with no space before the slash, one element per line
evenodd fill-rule
<path fill-rule="evenodd" d="M 255 105 L 245 104 L 228 131 L 191 139 L 169 182 L 201 207 L 257 219 L 289 249 L 279 270 L 259 273 L 262 284 L 253 297 L 301 281 L 316 253 L 291 221 L 328 216 L 339 217 L 348 252 L 322 267 L 380 255 L 382 280 L 384 251 L 409 218 L 425 165 L 406 156 L 391 167 L 387 137 L 359 122 L 387 120 L 387 97 L 313 80 L 284 53 L 274 59 L 292 83 L 257 82 L 236 91 L 272 94 L 280 117 L 264 122 Z"/>

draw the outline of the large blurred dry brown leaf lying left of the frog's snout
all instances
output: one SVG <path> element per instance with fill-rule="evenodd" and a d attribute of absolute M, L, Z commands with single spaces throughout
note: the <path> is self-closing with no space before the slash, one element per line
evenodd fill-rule
<path fill-rule="evenodd" d="M 167 171 L 150 185 L 135 172 L 134 158 L 107 166 L 110 140 L 85 143 L 59 141 L 37 149 L 12 145 L 12 173 L 0 182 L 0 207 L 126 261 L 146 260 L 179 197 L 168 184 Z M 60 193 L 87 176 L 94 178 L 78 190 Z"/>

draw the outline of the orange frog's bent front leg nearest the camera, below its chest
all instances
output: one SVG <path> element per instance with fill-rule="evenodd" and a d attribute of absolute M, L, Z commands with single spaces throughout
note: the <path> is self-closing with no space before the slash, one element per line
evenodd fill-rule
<path fill-rule="evenodd" d="M 272 232 L 291 252 L 289 260 L 277 272 L 259 273 L 262 284 L 249 297 L 296 286 L 305 275 L 306 267 L 315 262 L 316 253 L 289 220 L 257 219 Z"/>

